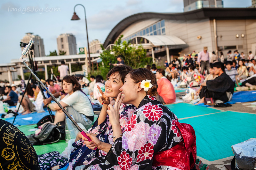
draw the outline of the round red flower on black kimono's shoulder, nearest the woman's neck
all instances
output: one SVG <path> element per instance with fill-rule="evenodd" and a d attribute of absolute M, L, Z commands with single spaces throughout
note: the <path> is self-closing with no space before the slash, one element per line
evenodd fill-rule
<path fill-rule="evenodd" d="M 158 119 L 163 115 L 163 109 L 157 105 L 150 105 L 143 108 L 143 113 L 148 120 L 158 121 Z"/>

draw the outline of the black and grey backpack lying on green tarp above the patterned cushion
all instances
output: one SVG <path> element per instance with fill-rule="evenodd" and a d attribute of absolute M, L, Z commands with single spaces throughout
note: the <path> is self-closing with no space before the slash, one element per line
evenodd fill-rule
<path fill-rule="evenodd" d="M 27 136 L 27 138 L 33 145 L 43 145 L 58 142 L 62 136 L 63 134 L 60 132 L 60 129 L 56 125 L 53 125 L 52 123 L 46 123 L 41 129 L 39 135 L 35 136 L 35 134 L 31 134 Z"/>

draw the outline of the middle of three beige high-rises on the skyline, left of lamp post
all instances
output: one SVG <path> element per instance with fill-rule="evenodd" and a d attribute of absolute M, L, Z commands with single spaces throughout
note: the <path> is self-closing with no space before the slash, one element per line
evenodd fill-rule
<path fill-rule="evenodd" d="M 60 51 L 66 52 L 65 55 L 76 54 L 76 37 L 72 33 L 60 34 L 57 38 L 58 54 Z"/>

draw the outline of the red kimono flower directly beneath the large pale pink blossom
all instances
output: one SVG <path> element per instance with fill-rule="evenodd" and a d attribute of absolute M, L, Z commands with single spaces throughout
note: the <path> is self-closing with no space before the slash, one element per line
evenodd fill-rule
<path fill-rule="evenodd" d="M 152 159 L 154 154 L 154 145 L 147 143 L 143 147 L 140 148 L 138 155 L 137 155 L 137 161 L 140 162 L 146 159 Z"/>

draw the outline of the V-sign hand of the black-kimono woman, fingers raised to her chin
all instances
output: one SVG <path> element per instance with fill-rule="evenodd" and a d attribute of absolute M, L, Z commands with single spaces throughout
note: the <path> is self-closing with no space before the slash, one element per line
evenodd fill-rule
<path fill-rule="evenodd" d="M 121 93 L 118 94 L 117 98 L 116 98 L 116 102 L 114 107 L 109 104 L 108 105 L 108 117 L 109 117 L 109 122 L 110 124 L 113 126 L 115 124 L 119 124 L 120 125 L 120 114 L 119 114 L 119 109 L 121 107 L 122 101 L 124 100 L 124 96 L 121 96 Z"/>

